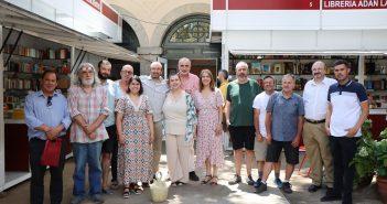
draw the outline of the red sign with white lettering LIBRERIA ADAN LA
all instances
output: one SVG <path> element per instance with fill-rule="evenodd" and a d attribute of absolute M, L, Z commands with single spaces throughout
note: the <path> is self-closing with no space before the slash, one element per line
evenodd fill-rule
<path fill-rule="evenodd" d="M 323 9 L 387 9 L 387 0 L 324 0 Z"/>

